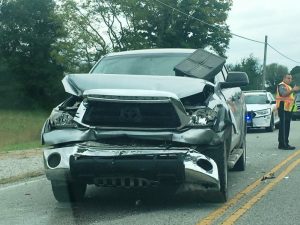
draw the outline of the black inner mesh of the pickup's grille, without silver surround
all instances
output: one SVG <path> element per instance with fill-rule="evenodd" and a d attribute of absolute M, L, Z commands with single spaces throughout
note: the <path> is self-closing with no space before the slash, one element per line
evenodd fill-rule
<path fill-rule="evenodd" d="M 171 103 L 89 101 L 82 122 L 91 126 L 177 128 L 180 120 Z"/>

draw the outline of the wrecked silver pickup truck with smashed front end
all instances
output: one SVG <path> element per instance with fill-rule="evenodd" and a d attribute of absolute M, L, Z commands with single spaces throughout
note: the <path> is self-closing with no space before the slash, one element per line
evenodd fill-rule
<path fill-rule="evenodd" d="M 87 184 L 213 192 L 227 200 L 228 169 L 246 164 L 242 72 L 202 49 L 111 53 L 88 74 L 62 81 L 70 97 L 42 129 L 44 164 L 57 201 Z"/>

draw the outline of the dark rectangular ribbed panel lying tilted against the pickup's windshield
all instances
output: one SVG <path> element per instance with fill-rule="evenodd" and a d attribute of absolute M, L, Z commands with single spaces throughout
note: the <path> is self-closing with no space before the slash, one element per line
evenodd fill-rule
<path fill-rule="evenodd" d="M 226 60 L 204 49 L 198 49 L 175 66 L 177 76 L 189 76 L 213 82 L 215 75 L 222 70 Z"/>

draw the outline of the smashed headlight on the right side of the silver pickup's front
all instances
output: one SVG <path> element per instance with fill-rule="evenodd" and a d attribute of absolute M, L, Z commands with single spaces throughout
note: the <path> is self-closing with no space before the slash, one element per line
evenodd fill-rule
<path fill-rule="evenodd" d="M 200 126 L 209 126 L 214 125 L 218 117 L 218 107 L 214 109 L 203 107 L 198 109 L 191 116 L 190 125 L 200 125 Z"/>

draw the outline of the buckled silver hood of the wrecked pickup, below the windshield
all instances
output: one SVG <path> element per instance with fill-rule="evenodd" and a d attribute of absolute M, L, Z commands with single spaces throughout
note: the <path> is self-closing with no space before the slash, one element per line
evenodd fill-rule
<path fill-rule="evenodd" d="M 154 90 L 165 91 L 184 98 L 202 92 L 212 83 L 189 77 L 118 75 L 118 74 L 70 74 L 62 80 L 65 91 L 76 96 L 91 89 Z"/>

